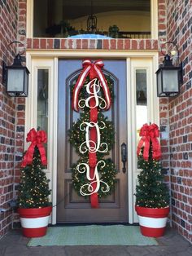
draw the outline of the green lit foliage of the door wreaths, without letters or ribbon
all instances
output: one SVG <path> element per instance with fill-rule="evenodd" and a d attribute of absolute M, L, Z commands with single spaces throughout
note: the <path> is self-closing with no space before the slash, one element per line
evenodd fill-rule
<path fill-rule="evenodd" d="M 107 86 L 109 87 L 110 94 L 111 94 L 111 101 L 115 98 L 114 96 L 114 84 L 113 81 L 111 80 L 111 77 L 106 76 L 107 79 Z M 82 99 L 87 99 L 89 97 L 89 94 L 86 91 L 86 84 L 90 81 L 89 77 L 86 77 L 84 86 L 82 86 L 79 94 L 79 100 Z M 74 90 L 76 82 L 71 85 L 71 94 L 72 91 Z M 100 90 L 98 93 L 99 96 L 104 98 L 103 90 Z M 105 124 L 104 129 L 100 129 L 100 136 L 101 136 L 101 142 L 102 143 L 107 143 L 107 152 L 96 152 L 97 155 L 97 161 L 103 160 L 105 161 L 106 165 L 103 168 L 98 168 L 98 174 L 99 178 L 101 181 L 107 183 L 107 185 L 110 187 L 110 190 L 108 192 L 103 192 L 105 190 L 105 186 L 101 185 L 99 190 L 98 190 L 98 197 L 104 197 L 107 195 L 111 195 L 111 193 L 115 190 L 116 187 L 116 166 L 112 162 L 111 158 L 106 158 L 107 155 L 109 155 L 111 149 L 113 148 L 113 145 L 115 143 L 115 129 L 113 122 L 108 120 L 108 117 L 105 117 L 103 114 L 103 109 L 101 108 L 101 105 L 103 104 L 102 101 L 99 99 L 99 107 L 98 107 L 98 126 L 103 127 L 103 123 Z M 90 183 L 90 181 L 86 178 L 85 173 L 80 173 L 77 169 L 76 166 L 80 163 L 86 163 L 89 165 L 89 151 L 87 150 L 85 153 L 80 152 L 80 146 L 81 143 L 85 142 L 85 130 L 81 130 L 80 126 L 82 123 L 89 122 L 89 108 L 87 107 L 82 107 L 81 108 L 81 113 L 80 117 L 77 119 L 76 122 L 73 122 L 72 128 L 68 130 L 68 137 L 70 143 L 72 143 L 72 146 L 75 148 L 76 153 L 80 156 L 79 161 L 76 162 L 72 166 L 72 184 L 73 188 L 76 190 L 76 192 L 81 196 L 80 190 L 81 187 L 85 183 Z M 105 146 L 100 144 L 100 150 L 103 151 L 105 149 Z M 104 147 L 104 148 L 103 148 Z M 86 145 L 83 149 L 86 148 Z M 100 167 L 100 166 L 98 166 Z M 102 184 L 102 183 L 101 183 Z M 88 187 L 84 189 L 85 193 L 89 193 Z M 86 196 L 85 196 L 86 197 Z"/>

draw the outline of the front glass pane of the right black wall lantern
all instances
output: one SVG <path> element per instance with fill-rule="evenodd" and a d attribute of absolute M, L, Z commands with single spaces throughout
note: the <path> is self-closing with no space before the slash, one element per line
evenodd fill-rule
<path fill-rule="evenodd" d="M 177 92 L 178 85 L 179 85 L 178 70 L 177 69 L 164 69 L 163 70 L 164 92 Z"/>

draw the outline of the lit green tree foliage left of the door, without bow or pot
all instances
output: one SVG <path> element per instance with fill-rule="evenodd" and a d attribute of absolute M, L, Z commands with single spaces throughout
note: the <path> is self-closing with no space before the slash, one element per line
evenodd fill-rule
<path fill-rule="evenodd" d="M 21 170 L 18 205 L 20 208 L 42 208 L 50 206 L 50 180 L 43 171 L 41 156 L 37 146 L 34 148 L 33 161 Z"/>

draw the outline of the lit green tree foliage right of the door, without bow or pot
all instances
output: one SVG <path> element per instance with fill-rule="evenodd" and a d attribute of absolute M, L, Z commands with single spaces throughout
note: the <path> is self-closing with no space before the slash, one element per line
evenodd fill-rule
<path fill-rule="evenodd" d="M 142 169 L 138 174 L 136 186 L 136 205 L 148 208 L 164 208 L 169 205 L 168 187 L 164 183 L 164 174 L 159 160 L 153 157 L 153 147 L 150 139 L 148 160 L 143 157 L 144 148 L 137 156 L 137 165 Z"/>

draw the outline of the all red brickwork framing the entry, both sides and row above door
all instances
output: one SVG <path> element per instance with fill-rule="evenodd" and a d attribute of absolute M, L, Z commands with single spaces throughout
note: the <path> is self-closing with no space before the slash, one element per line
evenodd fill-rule
<path fill-rule="evenodd" d="M 0 38 L 2 38 L 1 60 L 3 58 L 2 52 L 5 51 L 7 43 L 16 38 L 15 28 L 18 31 L 17 40 L 26 44 L 28 49 L 36 50 L 158 50 L 168 40 L 177 42 L 181 51 L 181 60 L 184 62 L 184 84 L 181 87 L 181 95 L 175 99 L 163 98 L 159 100 L 161 146 L 164 153 L 163 166 L 166 181 L 168 183 L 171 182 L 172 188 L 172 215 L 170 217 L 173 219 L 174 227 L 188 240 L 191 240 L 192 54 L 190 33 L 192 33 L 192 18 L 190 17 L 192 16 L 192 3 L 190 0 L 159 0 L 159 41 L 150 39 L 111 39 L 108 41 L 99 39 L 28 38 L 27 43 L 25 38 L 26 2 L 26 0 L 3 0 L 0 2 L 0 24 L 4 31 L 7 32 L 1 33 L 2 29 L 0 30 Z M 17 6 L 19 6 L 18 11 Z M 9 15 L 9 9 L 11 9 L 11 15 Z M 16 21 L 16 12 L 18 14 L 18 23 Z M 11 23 L 10 20 L 13 20 L 13 22 Z M 166 51 L 166 47 L 164 46 L 163 51 Z M 14 51 L 14 48 L 12 48 L 12 51 Z M 10 64 L 11 58 L 12 55 L 8 56 Z M 159 63 L 162 60 L 163 55 L 159 51 Z M 2 68 L 1 65 L 0 68 Z M 2 76 L 2 69 L 0 69 L 0 76 Z M 0 89 L 0 202 L 1 207 L 7 209 L 7 212 L 2 214 L 2 220 L 0 221 L 0 235 L 2 235 L 7 231 L 11 223 L 11 212 L 7 202 L 15 196 L 12 189 L 15 187 L 14 193 L 16 193 L 16 187 L 20 181 L 20 160 L 24 148 L 25 100 L 19 98 L 14 100 L 7 97 L 2 84 Z"/>

